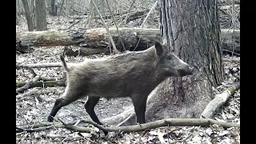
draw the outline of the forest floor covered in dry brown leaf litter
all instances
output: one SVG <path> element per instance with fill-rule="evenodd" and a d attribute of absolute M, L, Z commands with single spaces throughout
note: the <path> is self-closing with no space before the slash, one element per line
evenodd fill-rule
<path fill-rule="evenodd" d="M 56 19 L 56 18 L 55 18 Z M 66 18 L 59 18 L 59 22 L 54 18 L 48 18 L 48 28 L 56 30 L 70 26 Z M 16 31 L 27 31 L 25 18 L 19 20 Z M 100 26 L 98 26 L 100 27 Z M 56 47 L 40 47 L 34 48 L 34 52 L 30 54 L 16 54 L 16 62 L 18 63 L 42 63 L 42 62 L 59 62 L 58 54 L 63 50 L 63 46 Z M 92 55 L 87 58 L 106 57 L 104 54 Z M 226 58 L 230 59 L 226 55 Z M 69 57 L 68 62 L 82 62 L 82 57 Z M 232 65 L 225 62 L 226 82 L 222 86 L 216 88 L 216 94 L 222 92 L 234 82 L 235 78 L 230 75 L 230 68 L 235 74 L 240 74 L 240 58 L 233 57 L 235 60 Z M 46 78 L 62 78 L 62 68 L 42 68 L 34 69 L 36 74 L 42 74 Z M 33 78 L 33 74 L 29 70 L 16 70 L 17 81 L 27 81 Z M 58 98 L 63 92 L 64 87 L 44 87 L 39 88 L 38 92 L 30 97 L 16 100 L 16 126 L 22 127 L 33 124 L 33 122 L 46 122 L 46 117 L 50 113 L 54 105 L 55 98 Z M 31 89 L 29 89 L 31 90 Z M 27 92 L 26 90 L 25 92 Z M 88 118 L 88 114 L 84 110 L 83 103 L 86 98 L 73 102 L 69 106 L 59 110 L 56 118 L 62 119 L 64 122 L 73 122 L 81 118 Z M 107 101 L 101 98 L 95 112 L 100 119 L 114 116 L 126 110 L 126 106 L 131 104 L 130 98 L 117 98 Z M 238 90 L 225 106 L 222 106 L 214 115 L 214 119 L 225 122 L 240 122 L 240 90 Z M 222 126 L 207 127 L 190 127 L 190 126 L 170 126 L 161 127 L 144 132 L 136 132 L 130 134 L 109 133 L 104 134 L 86 134 L 78 133 L 64 128 L 56 128 L 51 130 L 43 130 L 40 132 L 17 134 L 17 143 L 161 143 L 158 135 L 167 143 L 240 143 L 240 129 L 229 128 L 223 129 Z"/>

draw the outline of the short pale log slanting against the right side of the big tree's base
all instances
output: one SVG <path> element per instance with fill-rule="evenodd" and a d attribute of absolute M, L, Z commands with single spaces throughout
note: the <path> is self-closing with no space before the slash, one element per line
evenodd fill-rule
<path fill-rule="evenodd" d="M 215 111 L 218 110 L 218 108 L 222 106 L 230 98 L 230 96 L 234 94 L 234 92 L 239 88 L 240 82 L 234 84 L 234 86 L 231 86 L 222 94 L 217 94 L 215 98 L 206 106 L 206 109 L 203 110 L 201 118 L 212 118 Z"/>

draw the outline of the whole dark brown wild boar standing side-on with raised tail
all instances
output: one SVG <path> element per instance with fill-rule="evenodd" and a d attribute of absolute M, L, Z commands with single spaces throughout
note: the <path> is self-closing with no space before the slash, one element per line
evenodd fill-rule
<path fill-rule="evenodd" d="M 150 92 L 168 77 L 193 73 L 193 68 L 186 62 L 166 50 L 160 42 L 155 42 L 147 50 L 86 59 L 68 65 L 61 55 L 62 66 L 67 72 L 67 85 L 62 97 L 56 100 L 48 121 L 53 122 L 62 106 L 88 96 L 86 112 L 98 124 L 102 125 L 102 122 L 99 122 L 94 106 L 99 98 L 121 97 L 132 99 L 137 122 L 145 123 L 146 99 Z"/>

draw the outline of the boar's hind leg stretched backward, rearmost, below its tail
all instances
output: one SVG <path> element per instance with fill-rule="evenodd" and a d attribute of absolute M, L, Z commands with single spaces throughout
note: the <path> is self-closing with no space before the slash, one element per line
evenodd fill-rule
<path fill-rule="evenodd" d="M 50 111 L 50 115 L 48 116 L 48 122 L 53 122 L 54 121 L 54 116 L 58 113 L 58 110 L 62 108 L 62 106 L 67 106 L 71 102 L 74 102 L 78 100 L 81 94 L 70 94 L 70 93 L 65 93 L 62 95 L 61 98 L 57 98 L 53 109 Z"/>

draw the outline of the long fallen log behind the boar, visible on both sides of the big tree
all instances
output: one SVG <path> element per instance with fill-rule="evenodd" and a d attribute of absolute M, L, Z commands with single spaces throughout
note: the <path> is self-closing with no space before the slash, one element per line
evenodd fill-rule
<path fill-rule="evenodd" d="M 145 50 L 154 45 L 155 40 L 160 40 L 159 29 L 142 28 L 118 28 L 122 35 L 123 44 L 126 50 Z M 118 41 L 118 30 L 110 28 L 110 34 L 119 50 L 122 48 Z M 221 39 L 223 49 L 232 51 L 233 30 L 221 30 Z M 235 30 L 234 52 L 240 53 L 240 30 Z M 109 37 L 105 28 L 97 29 L 78 29 L 78 30 L 60 30 L 60 31 L 31 31 L 16 33 L 16 39 L 20 46 L 82 46 L 90 49 L 101 49 L 108 51 Z M 97 51 L 97 50 L 95 50 Z M 94 52 L 95 52 L 94 51 Z M 87 54 L 87 52 L 85 52 Z"/>

